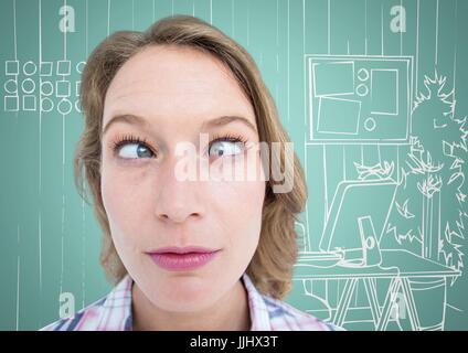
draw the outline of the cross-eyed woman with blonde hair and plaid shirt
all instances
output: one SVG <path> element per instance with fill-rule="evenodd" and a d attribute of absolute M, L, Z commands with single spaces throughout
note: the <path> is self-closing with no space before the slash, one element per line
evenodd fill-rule
<path fill-rule="evenodd" d="M 76 185 L 86 197 L 84 174 L 103 229 L 100 261 L 116 287 L 44 329 L 334 329 L 281 301 L 307 191 L 241 45 L 182 15 L 117 32 L 86 64 L 82 106 Z M 284 148 L 269 159 L 260 142 Z M 234 169 L 256 178 L 226 178 Z"/>

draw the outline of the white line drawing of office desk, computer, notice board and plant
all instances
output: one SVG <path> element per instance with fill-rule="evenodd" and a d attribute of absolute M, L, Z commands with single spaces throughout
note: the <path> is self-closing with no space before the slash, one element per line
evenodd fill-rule
<path fill-rule="evenodd" d="M 340 60 L 348 65 L 354 62 L 349 68 L 355 75 L 353 93 L 340 77 L 345 75 L 344 66 L 337 73 L 338 88 L 316 87 L 320 84 L 317 62 Z M 446 88 L 446 78 L 436 72 L 425 77 L 423 92 L 413 98 L 412 56 L 306 54 L 305 68 L 310 129 L 305 140 L 306 175 L 309 151 L 321 154 L 326 212 L 319 243 L 311 242 L 313 233 L 308 227 L 313 221 L 306 215 L 307 229 L 301 234 L 309 235 L 309 247 L 299 253 L 295 265 L 294 280 L 299 290 L 291 298 L 301 302 L 300 309 L 338 325 L 444 330 L 446 309 L 451 308 L 448 288 L 462 275 L 460 240 L 468 217 L 462 189 L 468 126 L 466 118 L 454 115 L 454 89 Z M 393 98 L 385 96 L 386 100 L 374 104 L 385 109 L 371 109 L 377 79 L 393 93 Z M 347 92 L 340 95 L 343 87 Z M 355 133 L 349 133 L 338 115 L 332 121 L 334 131 L 323 128 L 323 101 L 340 104 L 343 98 L 362 106 Z M 348 117 L 349 110 L 342 109 L 342 116 Z M 401 119 L 402 135 L 366 138 L 363 131 L 379 132 L 383 117 L 387 121 Z M 360 146 L 360 154 L 348 152 L 352 145 Z M 342 164 L 342 180 L 330 184 L 328 169 L 333 157 L 329 150 L 336 153 L 334 146 L 342 146 L 343 160 L 333 160 L 330 168 Z M 375 150 L 376 162 L 364 159 L 364 147 Z M 392 157 L 384 154 L 384 147 L 393 151 Z M 354 167 L 352 175 L 350 163 Z M 330 203 L 329 192 L 333 190 Z M 444 213 L 442 204 L 458 212 Z M 428 300 L 430 315 L 425 314 Z"/>

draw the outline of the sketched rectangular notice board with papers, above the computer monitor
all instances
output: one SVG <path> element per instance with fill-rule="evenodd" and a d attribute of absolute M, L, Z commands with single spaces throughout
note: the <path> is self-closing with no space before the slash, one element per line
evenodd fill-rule
<path fill-rule="evenodd" d="M 407 142 L 412 57 L 305 58 L 310 142 Z"/>

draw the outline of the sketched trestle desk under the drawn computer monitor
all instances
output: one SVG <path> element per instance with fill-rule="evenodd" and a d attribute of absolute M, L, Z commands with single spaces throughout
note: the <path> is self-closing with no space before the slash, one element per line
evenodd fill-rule
<path fill-rule="evenodd" d="M 344 264 L 337 264 L 332 267 L 317 267 L 313 261 L 308 263 L 307 260 L 301 260 L 294 266 L 292 279 L 344 280 L 344 288 L 339 297 L 338 307 L 333 317 L 333 323 L 339 327 L 344 323 L 358 281 L 362 281 L 370 303 L 375 330 L 377 331 L 386 329 L 392 308 L 397 300 L 397 293 L 402 290 L 412 329 L 417 331 L 422 330 L 423 327 L 419 323 L 419 315 L 416 310 L 411 280 L 415 278 L 439 279 L 446 290 L 447 278 L 460 276 L 461 272 L 404 249 L 382 249 L 381 255 L 382 263 L 379 266 L 371 267 L 349 267 Z M 374 279 L 382 278 L 390 279 L 390 286 L 383 306 L 381 307 L 377 300 L 377 290 Z M 443 327 L 438 329 L 443 329 Z"/>

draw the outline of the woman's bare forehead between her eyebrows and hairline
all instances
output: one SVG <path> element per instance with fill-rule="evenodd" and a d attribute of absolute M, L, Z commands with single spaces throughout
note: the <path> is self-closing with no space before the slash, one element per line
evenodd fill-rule
<path fill-rule="evenodd" d="M 170 117 L 242 114 L 249 100 L 216 57 L 190 47 L 153 45 L 130 57 L 111 81 L 104 120 L 114 114 Z"/>

